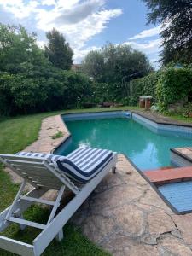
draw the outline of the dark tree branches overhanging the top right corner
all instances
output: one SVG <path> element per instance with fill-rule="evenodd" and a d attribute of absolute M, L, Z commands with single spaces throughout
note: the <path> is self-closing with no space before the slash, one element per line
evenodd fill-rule
<path fill-rule="evenodd" d="M 161 23 L 164 49 L 161 61 L 192 62 L 192 1 L 143 0 L 148 6 L 148 23 Z"/>

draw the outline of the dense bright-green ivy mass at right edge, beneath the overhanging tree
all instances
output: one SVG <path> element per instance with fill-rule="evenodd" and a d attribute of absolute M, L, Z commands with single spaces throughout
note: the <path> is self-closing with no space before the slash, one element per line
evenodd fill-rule
<path fill-rule="evenodd" d="M 192 70 L 169 67 L 162 70 L 157 85 L 158 106 L 161 111 L 180 100 L 188 101 L 192 95 Z"/>

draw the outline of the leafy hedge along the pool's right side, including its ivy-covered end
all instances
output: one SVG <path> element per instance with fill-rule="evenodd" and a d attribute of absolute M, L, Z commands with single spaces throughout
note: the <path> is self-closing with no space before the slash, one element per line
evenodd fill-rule
<path fill-rule="evenodd" d="M 142 79 L 134 79 L 128 86 L 128 101 L 137 104 L 139 96 L 153 96 L 160 111 L 178 101 L 192 101 L 192 69 L 167 67 Z"/>

